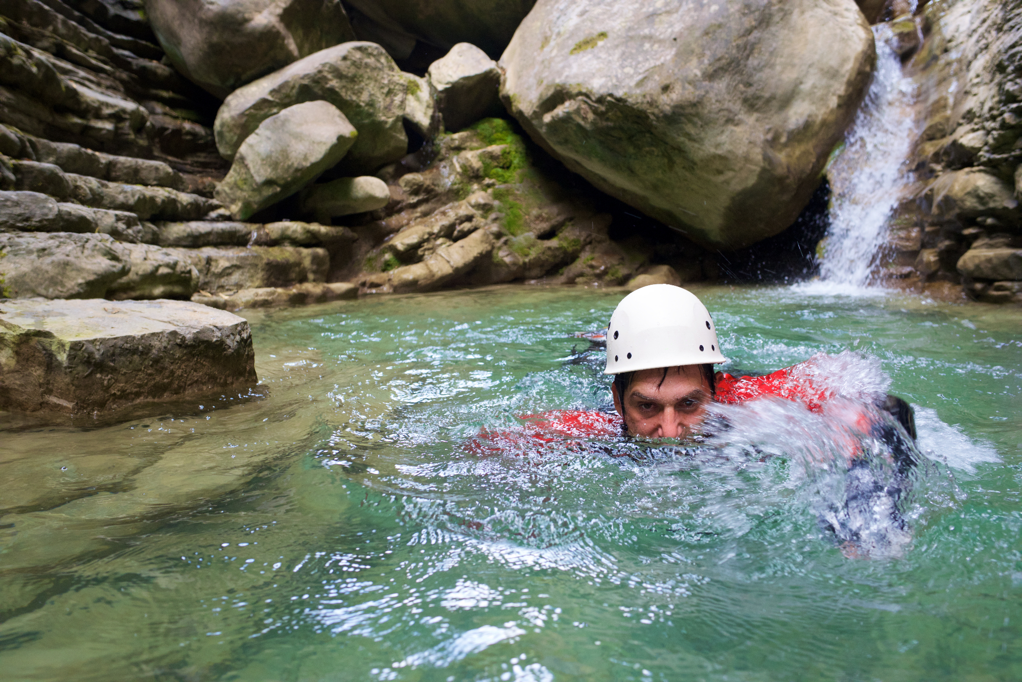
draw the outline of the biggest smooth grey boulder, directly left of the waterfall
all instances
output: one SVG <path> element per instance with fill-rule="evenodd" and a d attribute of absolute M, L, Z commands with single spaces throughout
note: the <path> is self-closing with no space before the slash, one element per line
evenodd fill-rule
<path fill-rule="evenodd" d="M 501 57 L 528 134 L 713 248 L 788 227 L 876 60 L 852 0 L 540 0 Z"/>

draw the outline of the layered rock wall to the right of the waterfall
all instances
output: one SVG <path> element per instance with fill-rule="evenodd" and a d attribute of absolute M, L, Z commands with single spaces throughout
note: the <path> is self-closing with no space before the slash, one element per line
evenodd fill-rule
<path fill-rule="evenodd" d="M 923 133 L 887 272 L 1022 303 L 1022 2 L 938 0 L 892 20 L 907 36 Z"/>

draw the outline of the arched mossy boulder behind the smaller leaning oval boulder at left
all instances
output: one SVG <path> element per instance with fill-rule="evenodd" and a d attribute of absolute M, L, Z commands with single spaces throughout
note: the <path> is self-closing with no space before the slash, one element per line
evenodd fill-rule
<path fill-rule="evenodd" d="M 403 123 L 407 92 L 408 81 L 379 45 L 337 45 L 231 93 L 214 124 L 217 148 L 233 160 L 261 123 L 294 104 L 321 99 L 340 109 L 359 131 L 338 171 L 371 173 L 408 150 Z"/>

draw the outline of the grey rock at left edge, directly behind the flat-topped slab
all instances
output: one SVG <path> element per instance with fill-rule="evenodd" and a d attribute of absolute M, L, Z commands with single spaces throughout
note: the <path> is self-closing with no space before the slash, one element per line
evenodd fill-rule
<path fill-rule="evenodd" d="M 95 299 L 128 274 L 124 244 L 107 234 L 0 233 L 3 272 L 14 299 Z"/>

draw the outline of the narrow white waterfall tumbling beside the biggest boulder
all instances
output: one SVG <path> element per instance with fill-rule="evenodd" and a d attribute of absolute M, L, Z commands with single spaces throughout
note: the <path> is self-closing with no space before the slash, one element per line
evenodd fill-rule
<path fill-rule="evenodd" d="M 908 158 L 919 134 L 912 109 L 915 85 L 889 45 L 890 27 L 876 25 L 873 34 L 873 83 L 828 171 L 833 194 L 820 278 L 799 287 L 810 292 L 862 293 L 873 282 L 888 220 L 911 184 Z"/>

